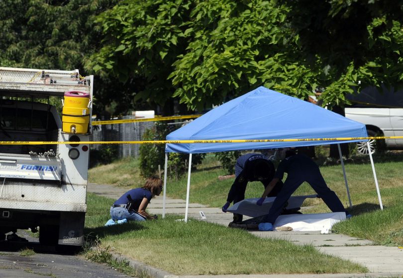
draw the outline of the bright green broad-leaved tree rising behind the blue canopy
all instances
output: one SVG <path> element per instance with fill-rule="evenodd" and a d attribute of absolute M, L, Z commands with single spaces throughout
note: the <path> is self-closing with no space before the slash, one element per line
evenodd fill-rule
<path fill-rule="evenodd" d="M 209 107 L 258 86 L 330 105 L 402 81 L 402 1 L 123 0 L 98 17 L 91 63 L 135 98 Z"/>

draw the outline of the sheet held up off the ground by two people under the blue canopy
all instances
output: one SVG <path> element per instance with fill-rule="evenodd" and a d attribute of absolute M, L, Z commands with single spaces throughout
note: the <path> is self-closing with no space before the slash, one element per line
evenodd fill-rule
<path fill-rule="evenodd" d="M 244 199 L 235 203 L 233 206 L 227 209 L 228 212 L 238 213 L 242 215 L 247 215 L 250 217 L 258 217 L 269 213 L 270 208 L 276 197 L 268 197 L 264 200 L 262 206 L 256 204 L 259 198 Z M 303 196 L 291 196 L 288 199 L 287 209 L 299 208 L 301 207 L 303 201 L 306 198 L 317 198 L 317 195 L 303 195 Z"/>

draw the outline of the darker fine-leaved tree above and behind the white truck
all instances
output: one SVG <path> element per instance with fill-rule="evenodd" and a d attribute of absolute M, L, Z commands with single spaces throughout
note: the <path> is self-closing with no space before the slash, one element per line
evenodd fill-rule
<path fill-rule="evenodd" d="M 12 0 L 0 1 L 0 66 L 34 69 L 79 69 L 100 48 L 95 15 L 117 0 Z M 110 80 L 96 76 L 96 109 L 111 102 Z M 113 88 L 113 89 L 110 89 Z M 123 90 L 123 89 L 122 89 Z M 130 101 L 128 102 L 130 103 Z"/>

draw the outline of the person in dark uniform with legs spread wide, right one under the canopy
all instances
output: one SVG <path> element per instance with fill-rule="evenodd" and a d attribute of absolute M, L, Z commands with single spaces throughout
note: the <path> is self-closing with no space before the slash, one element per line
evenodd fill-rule
<path fill-rule="evenodd" d="M 278 181 L 283 179 L 284 173 L 288 174 L 287 179 L 283 188 L 277 194 L 269 214 L 264 218 L 264 223 L 259 224 L 259 230 L 271 231 L 273 229 L 273 224 L 281 214 L 285 203 L 303 182 L 307 182 L 316 191 L 318 197 L 325 202 L 332 212 L 345 212 L 347 217 L 351 217 L 344 209 L 336 193 L 326 185 L 322 174 L 320 174 L 319 167 L 309 157 L 298 155 L 293 151 L 286 152 L 286 158 L 277 167 L 274 179 L 266 187 L 262 197 L 257 201 L 257 205 L 262 205 L 264 199 L 270 194 Z"/>

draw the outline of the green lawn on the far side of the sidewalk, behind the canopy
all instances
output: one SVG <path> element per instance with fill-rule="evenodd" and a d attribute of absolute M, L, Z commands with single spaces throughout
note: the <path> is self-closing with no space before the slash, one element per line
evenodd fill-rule
<path fill-rule="evenodd" d="M 349 183 L 353 207 L 348 208 L 354 215 L 350 221 L 343 221 L 334 226 L 335 231 L 354 237 L 365 238 L 381 245 L 403 246 L 403 169 L 402 153 L 387 153 L 374 156 L 379 187 L 384 204 L 380 210 L 372 168 L 368 157 L 355 157 L 352 163 L 346 163 L 346 175 Z M 90 170 L 90 181 L 141 186 L 144 179 L 139 177 L 138 162 L 132 158 L 100 166 Z M 343 172 L 340 165 L 320 167 L 320 171 L 329 185 L 348 207 Z M 213 154 L 207 154 L 203 163 L 192 172 L 190 202 L 211 207 L 222 206 L 233 180 L 219 181 L 219 175 L 225 175 Z M 108 178 L 109 176 L 113 178 Z M 187 177 L 180 180 L 168 178 L 167 195 L 173 198 L 186 198 Z M 260 197 L 263 185 L 250 183 L 246 189 L 246 198 Z M 307 184 L 303 184 L 295 195 L 314 194 Z M 304 213 L 322 213 L 330 210 L 321 199 L 307 199 L 303 206 L 311 206 Z"/>

